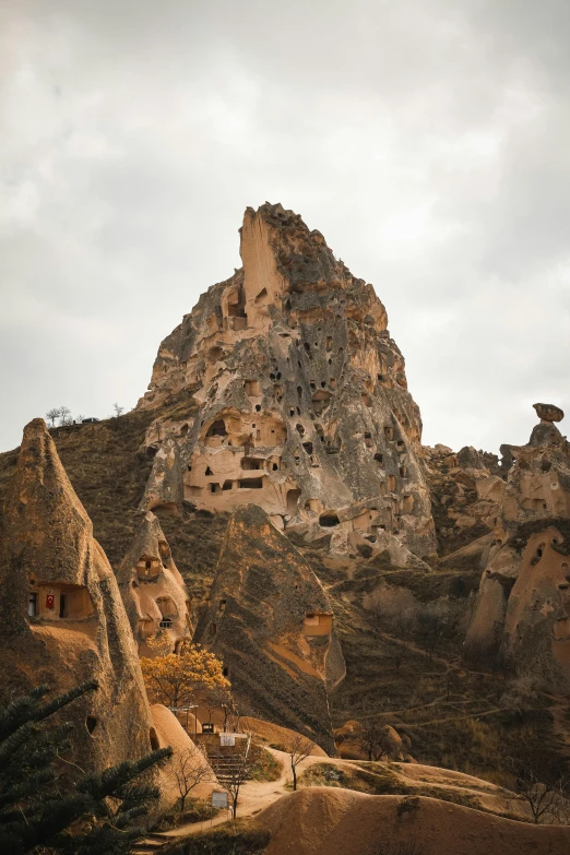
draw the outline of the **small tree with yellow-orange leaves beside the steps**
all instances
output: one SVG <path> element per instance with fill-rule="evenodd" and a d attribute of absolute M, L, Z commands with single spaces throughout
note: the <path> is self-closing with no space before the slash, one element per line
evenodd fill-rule
<path fill-rule="evenodd" d="M 195 703 L 197 697 L 204 692 L 229 689 L 221 660 L 198 644 L 187 642 L 177 653 L 141 658 L 141 668 L 151 703 L 178 709 Z"/>

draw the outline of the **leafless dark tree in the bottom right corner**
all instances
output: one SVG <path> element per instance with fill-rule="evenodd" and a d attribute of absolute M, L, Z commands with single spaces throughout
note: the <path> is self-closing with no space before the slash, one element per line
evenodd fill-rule
<path fill-rule="evenodd" d="M 508 755 L 506 765 L 514 775 L 514 791 L 529 806 L 534 822 L 557 822 L 562 809 L 568 814 L 569 776 L 554 769 L 544 752 L 522 750 Z"/>

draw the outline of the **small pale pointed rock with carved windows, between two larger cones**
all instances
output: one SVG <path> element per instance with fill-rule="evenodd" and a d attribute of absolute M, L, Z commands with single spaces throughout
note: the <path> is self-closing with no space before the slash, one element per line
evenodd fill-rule
<path fill-rule="evenodd" d="M 191 604 L 157 518 L 145 513 L 117 581 L 142 656 L 156 655 L 147 639 L 165 633 L 174 651 L 191 636 Z M 164 651 L 163 651 L 164 652 Z"/>

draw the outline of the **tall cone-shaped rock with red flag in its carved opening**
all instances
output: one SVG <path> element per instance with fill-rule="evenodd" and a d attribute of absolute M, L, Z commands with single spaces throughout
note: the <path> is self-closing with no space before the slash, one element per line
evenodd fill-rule
<path fill-rule="evenodd" d="M 147 753 L 153 725 L 117 582 L 41 419 L 24 430 L 4 501 L 0 580 L 3 691 L 95 679 L 69 708 L 74 761 L 100 770 Z"/>

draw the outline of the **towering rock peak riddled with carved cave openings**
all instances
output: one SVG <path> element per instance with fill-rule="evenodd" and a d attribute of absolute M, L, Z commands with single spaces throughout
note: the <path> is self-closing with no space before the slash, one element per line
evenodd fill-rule
<path fill-rule="evenodd" d="M 195 388 L 200 404 L 149 429 L 143 508 L 176 510 L 183 482 L 199 509 L 254 501 L 309 541 L 331 534 L 335 551 L 366 538 L 432 554 L 419 409 L 372 286 L 281 205 L 246 211 L 240 251 L 164 340 L 139 402 Z"/>

